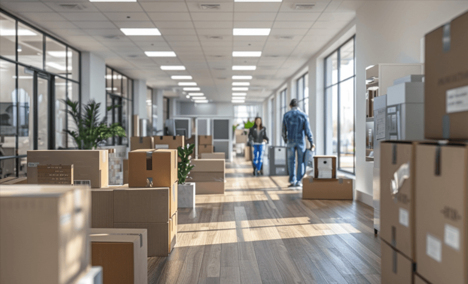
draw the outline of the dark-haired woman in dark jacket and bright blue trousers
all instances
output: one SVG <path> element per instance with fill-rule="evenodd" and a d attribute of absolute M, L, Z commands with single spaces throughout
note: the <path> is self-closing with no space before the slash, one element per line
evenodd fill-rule
<path fill-rule="evenodd" d="M 253 175 L 263 174 L 263 152 L 265 151 L 265 142 L 268 143 L 268 137 L 260 117 L 255 117 L 255 124 L 248 132 L 248 140 L 253 144 Z"/>

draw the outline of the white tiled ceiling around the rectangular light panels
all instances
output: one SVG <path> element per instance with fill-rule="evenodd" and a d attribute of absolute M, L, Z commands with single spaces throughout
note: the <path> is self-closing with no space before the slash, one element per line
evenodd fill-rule
<path fill-rule="evenodd" d="M 157 88 L 177 87 L 171 75 L 192 75 L 209 100 L 230 102 L 232 75 L 252 75 L 247 102 L 260 102 L 278 88 L 356 14 L 362 0 L 2 0 L 1 6 L 90 51 L 106 64 Z M 67 9 L 62 4 L 80 4 Z M 297 10 L 296 4 L 310 4 Z M 220 4 L 207 10 L 200 4 Z M 120 28 L 158 28 L 162 36 L 125 36 Z M 233 36 L 233 28 L 271 28 L 269 36 Z M 222 39 L 211 39 L 221 36 Z M 289 37 L 284 39 L 284 37 Z M 174 51 L 177 57 L 147 57 L 145 51 Z M 262 51 L 261 57 L 232 57 L 233 51 Z M 162 71 L 182 64 L 185 71 Z M 233 71 L 232 65 L 257 65 Z M 179 87 L 180 88 L 180 87 Z M 181 88 L 180 88 L 181 89 Z"/>

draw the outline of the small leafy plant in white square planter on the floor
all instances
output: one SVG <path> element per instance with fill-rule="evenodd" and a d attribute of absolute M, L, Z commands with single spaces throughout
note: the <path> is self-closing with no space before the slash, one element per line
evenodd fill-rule
<path fill-rule="evenodd" d="M 178 147 L 177 153 L 180 162 L 177 164 L 177 207 L 195 208 L 195 183 L 186 182 L 187 175 L 195 166 L 190 164 L 190 158 L 195 144 L 187 144 L 185 147 Z"/>

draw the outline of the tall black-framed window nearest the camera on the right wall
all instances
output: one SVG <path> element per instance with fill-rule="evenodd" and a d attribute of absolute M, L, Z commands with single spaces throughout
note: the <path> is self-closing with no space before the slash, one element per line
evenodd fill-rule
<path fill-rule="evenodd" d="M 354 37 L 325 58 L 325 153 L 338 157 L 338 169 L 355 172 Z"/>

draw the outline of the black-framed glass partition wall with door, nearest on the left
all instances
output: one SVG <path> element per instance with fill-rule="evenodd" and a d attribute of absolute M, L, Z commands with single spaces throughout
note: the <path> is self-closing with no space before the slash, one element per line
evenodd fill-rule
<path fill-rule="evenodd" d="M 0 9 L 1 178 L 26 175 L 27 150 L 76 147 L 63 101 L 80 102 L 80 56 Z"/>

